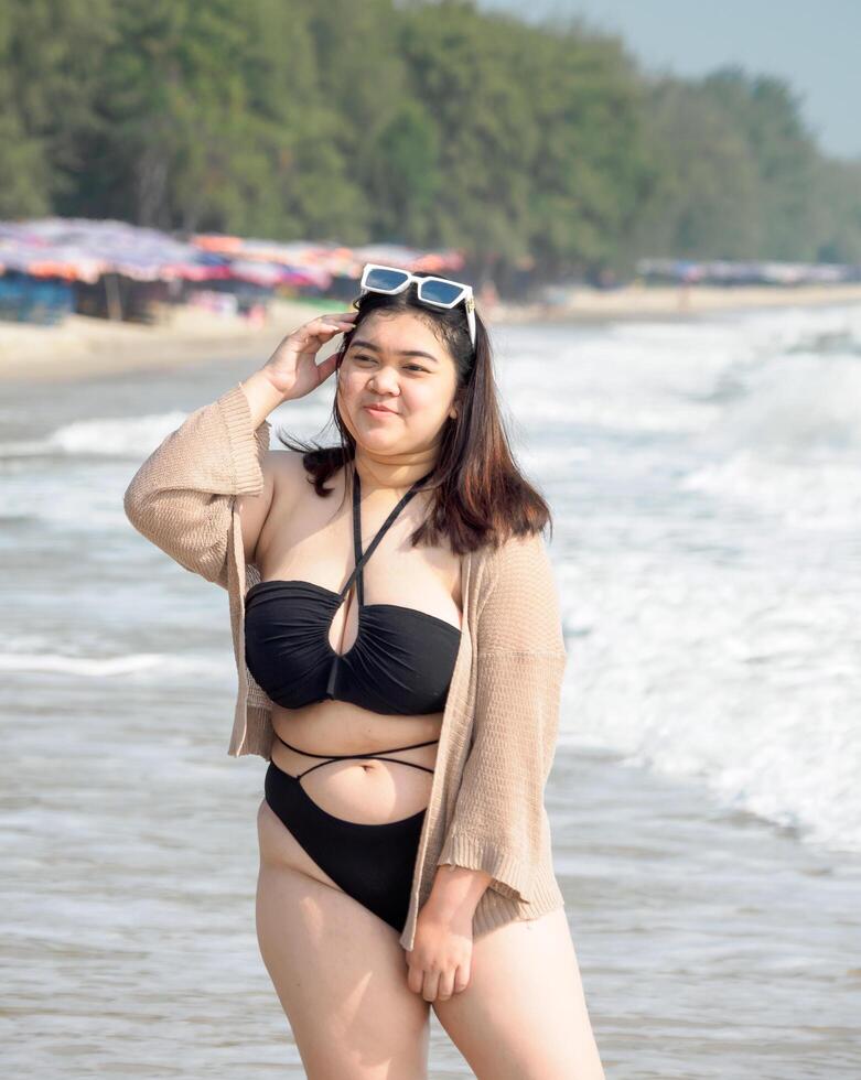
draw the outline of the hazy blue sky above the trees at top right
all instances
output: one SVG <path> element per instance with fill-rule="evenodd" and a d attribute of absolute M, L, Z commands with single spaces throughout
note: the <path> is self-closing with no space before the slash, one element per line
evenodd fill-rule
<path fill-rule="evenodd" d="M 617 33 L 650 72 L 727 63 L 785 78 L 821 150 L 861 156 L 861 0 L 477 0 L 528 21 L 562 13 Z"/>

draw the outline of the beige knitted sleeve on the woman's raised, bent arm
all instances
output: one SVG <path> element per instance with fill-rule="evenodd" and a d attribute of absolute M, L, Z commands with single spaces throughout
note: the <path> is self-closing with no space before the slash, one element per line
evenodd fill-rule
<path fill-rule="evenodd" d="M 190 413 L 131 479 L 122 505 L 148 540 L 186 570 L 227 587 L 227 542 L 237 495 L 263 487 L 268 421 L 252 428 L 241 384 Z"/>

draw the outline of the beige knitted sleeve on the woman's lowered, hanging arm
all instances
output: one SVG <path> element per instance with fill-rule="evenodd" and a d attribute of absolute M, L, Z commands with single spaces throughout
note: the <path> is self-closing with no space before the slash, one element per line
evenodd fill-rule
<path fill-rule="evenodd" d="M 543 790 L 567 655 L 541 536 L 509 540 L 489 568 L 476 624 L 471 744 L 437 865 L 485 871 L 491 888 L 528 904 L 549 839 Z"/>

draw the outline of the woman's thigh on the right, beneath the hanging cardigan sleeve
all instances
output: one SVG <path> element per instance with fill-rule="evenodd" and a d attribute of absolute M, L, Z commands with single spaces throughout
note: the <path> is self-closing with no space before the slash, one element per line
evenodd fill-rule
<path fill-rule="evenodd" d="M 433 1007 L 478 1080 L 603 1080 L 564 908 L 478 938 Z"/>

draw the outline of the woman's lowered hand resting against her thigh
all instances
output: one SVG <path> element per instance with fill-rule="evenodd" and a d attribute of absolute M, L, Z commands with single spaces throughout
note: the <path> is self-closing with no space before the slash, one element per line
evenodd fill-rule
<path fill-rule="evenodd" d="M 433 904 L 419 911 L 407 950 L 407 985 L 426 1002 L 446 1002 L 466 990 L 472 965 L 472 918 L 446 917 Z"/>

